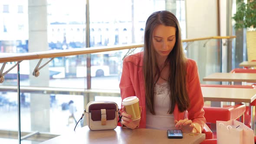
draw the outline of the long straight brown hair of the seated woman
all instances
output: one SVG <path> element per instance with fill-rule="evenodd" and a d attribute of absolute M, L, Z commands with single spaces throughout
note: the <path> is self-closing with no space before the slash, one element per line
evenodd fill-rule
<path fill-rule="evenodd" d="M 185 111 L 190 107 L 190 101 L 187 94 L 187 58 L 181 43 L 181 28 L 176 16 L 173 13 L 163 10 L 152 13 L 146 22 L 144 34 L 144 86 L 146 92 L 146 103 L 150 112 L 155 115 L 154 111 L 154 87 L 159 79 L 154 79 L 156 75 L 160 75 L 160 69 L 155 58 L 155 50 L 152 44 L 153 30 L 156 26 L 163 24 L 164 26 L 173 26 L 176 28 L 176 42 L 174 48 L 167 56 L 165 61 L 170 63 L 170 74 L 168 78 L 168 88 L 170 96 L 170 105 L 168 113 L 172 114 L 175 104 L 178 105 L 179 111 Z"/>

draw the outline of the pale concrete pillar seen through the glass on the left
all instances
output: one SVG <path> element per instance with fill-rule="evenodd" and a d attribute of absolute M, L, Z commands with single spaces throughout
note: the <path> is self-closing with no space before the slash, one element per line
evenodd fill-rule
<path fill-rule="evenodd" d="M 29 52 L 48 50 L 47 42 L 47 0 L 28 0 Z M 48 59 L 44 59 L 41 65 Z M 32 75 L 39 59 L 30 60 L 30 86 L 48 87 L 49 69 L 46 65 L 40 75 Z M 50 98 L 47 94 L 33 94 L 30 97 L 31 131 L 50 131 Z"/>

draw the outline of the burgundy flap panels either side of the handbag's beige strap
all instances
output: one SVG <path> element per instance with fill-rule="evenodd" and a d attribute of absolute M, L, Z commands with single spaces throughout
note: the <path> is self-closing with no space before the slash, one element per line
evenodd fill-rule
<path fill-rule="evenodd" d="M 103 108 L 104 109 L 104 108 Z M 115 109 L 106 109 L 107 121 L 113 120 L 116 117 Z M 92 121 L 101 121 L 102 115 L 101 110 L 91 110 Z"/>

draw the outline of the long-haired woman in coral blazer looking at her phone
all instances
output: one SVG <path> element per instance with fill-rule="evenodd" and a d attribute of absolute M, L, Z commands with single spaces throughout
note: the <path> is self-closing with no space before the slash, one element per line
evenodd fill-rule
<path fill-rule="evenodd" d="M 141 106 L 137 121 L 122 108 L 125 127 L 202 132 L 206 121 L 197 64 L 184 56 L 181 29 L 171 12 L 148 17 L 144 52 L 124 59 L 119 86 L 122 99 L 136 95 Z"/>

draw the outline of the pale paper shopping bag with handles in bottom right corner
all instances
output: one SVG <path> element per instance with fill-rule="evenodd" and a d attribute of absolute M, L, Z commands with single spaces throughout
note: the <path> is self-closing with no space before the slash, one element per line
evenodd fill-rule
<path fill-rule="evenodd" d="M 240 121 L 216 121 L 217 144 L 254 144 L 253 130 Z"/>

